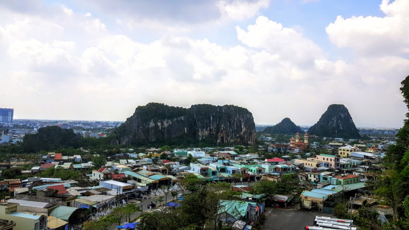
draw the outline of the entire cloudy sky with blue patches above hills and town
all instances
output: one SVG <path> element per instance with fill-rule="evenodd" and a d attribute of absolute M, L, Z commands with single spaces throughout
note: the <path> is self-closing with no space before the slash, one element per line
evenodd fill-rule
<path fill-rule="evenodd" d="M 401 127 L 407 0 L 0 1 L 0 107 L 124 121 L 149 102 L 233 104 L 257 124 Z"/>

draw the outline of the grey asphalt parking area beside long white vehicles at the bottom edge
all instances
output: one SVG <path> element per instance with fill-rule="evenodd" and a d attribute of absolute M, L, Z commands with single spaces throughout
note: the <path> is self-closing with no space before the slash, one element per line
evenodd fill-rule
<path fill-rule="evenodd" d="M 312 225 L 315 216 L 333 217 L 334 215 L 321 212 L 301 210 L 274 209 L 267 216 L 262 227 L 263 230 L 301 230 L 307 225 Z"/>

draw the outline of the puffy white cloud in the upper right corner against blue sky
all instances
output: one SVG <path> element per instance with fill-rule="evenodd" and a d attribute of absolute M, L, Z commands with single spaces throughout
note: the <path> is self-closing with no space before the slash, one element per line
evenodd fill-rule
<path fill-rule="evenodd" d="M 383 0 L 384 17 L 338 16 L 326 31 L 339 48 L 352 48 L 359 54 L 401 55 L 409 53 L 409 1 Z"/>

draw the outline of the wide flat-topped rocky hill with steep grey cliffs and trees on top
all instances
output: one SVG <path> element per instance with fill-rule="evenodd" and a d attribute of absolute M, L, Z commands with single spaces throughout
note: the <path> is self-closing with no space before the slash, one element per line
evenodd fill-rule
<path fill-rule="evenodd" d="M 253 144 L 253 114 L 233 105 L 173 107 L 160 103 L 138 106 L 117 130 L 118 144 L 140 145 L 177 140 L 208 143 Z"/>

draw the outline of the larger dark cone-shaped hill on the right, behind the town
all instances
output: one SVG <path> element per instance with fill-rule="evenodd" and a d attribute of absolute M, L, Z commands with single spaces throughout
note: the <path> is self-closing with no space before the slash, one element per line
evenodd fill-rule
<path fill-rule="evenodd" d="M 359 131 L 344 105 L 328 106 L 320 120 L 308 129 L 309 134 L 346 139 L 359 139 Z"/>

